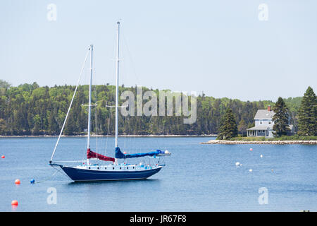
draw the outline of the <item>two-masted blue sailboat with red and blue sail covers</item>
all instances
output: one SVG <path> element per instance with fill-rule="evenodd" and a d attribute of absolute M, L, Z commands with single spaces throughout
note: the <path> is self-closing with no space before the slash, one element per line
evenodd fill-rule
<path fill-rule="evenodd" d="M 75 92 L 73 94 L 73 99 L 70 101 L 70 106 L 68 108 L 68 112 L 66 114 L 66 119 L 61 128 L 61 132 L 56 141 L 56 145 L 54 147 L 53 153 L 51 155 L 51 160 L 49 161 L 49 165 L 51 167 L 61 167 L 63 172 L 65 172 L 70 179 L 75 182 L 89 182 L 89 181 L 106 181 L 106 180 L 125 180 L 125 179 L 147 179 L 152 175 L 158 173 L 165 164 L 159 162 L 159 158 L 162 156 L 171 155 L 168 150 L 153 150 L 148 153 L 135 153 L 135 154 L 126 154 L 122 152 L 118 146 L 118 84 L 119 84 L 119 35 L 120 35 L 120 22 L 118 24 L 117 30 L 117 48 L 116 48 L 116 136 L 115 136 L 115 149 L 114 154 L 115 157 L 108 157 L 106 155 L 101 155 L 99 153 L 95 153 L 90 149 L 90 136 L 91 136 L 91 107 L 92 107 L 92 60 L 93 60 L 93 45 L 89 46 L 88 53 L 90 53 L 90 77 L 89 77 L 89 104 L 88 104 L 88 124 L 87 124 L 87 160 L 82 161 L 53 161 L 53 157 L 58 145 L 58 141 L 61 138 L 63 133 L 63 128 L 66 124 L 66 120 L 68 117 L 68 113 L 70 111 L 70 107 L 73 103 L 73 99 L 75 97 L 75 93 L 77 90 L 77 86 L 79 84 L 80 78 L 78 79 L 77 86 L 75 88 Z M 86 54 L 86 59 L 87 59 Z M 86 61 L 85 59 L 85 61 Z M 85 62 L 84 62 L 85 65 Z M 82 71 L 84 68 L 82 66 Z M 81 76 L 82 72 L 80 73 Z M 129 158 L 135 157 L 145 157 L 149 156 L 154 161 L 149 161 L 149 164 L 128 164 L 127 162 L 118 163 L 118 160 L 126 160 Z M 102 160 L 108 162 L 107 164 L 94 164 L 92 161 L 94 160 Z M 80 162 L 79 165 L 76 166 L 68 166 L 61 162 Z M 100 161 L 98 161 L 100 162 Z"/>

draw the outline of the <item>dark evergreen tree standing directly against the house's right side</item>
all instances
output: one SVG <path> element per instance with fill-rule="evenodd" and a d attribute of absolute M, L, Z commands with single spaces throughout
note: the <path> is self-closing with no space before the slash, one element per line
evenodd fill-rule
<path fill-rule="evenodd" d="M 272 118 L 274 121 L 273 135 L 278 137 L 287 135 L 287 133 L 290 131 L 289 114 L 282 97 L 278 97 L 278 101 L 275 103 L 273 111 L 275 112 Z"/>

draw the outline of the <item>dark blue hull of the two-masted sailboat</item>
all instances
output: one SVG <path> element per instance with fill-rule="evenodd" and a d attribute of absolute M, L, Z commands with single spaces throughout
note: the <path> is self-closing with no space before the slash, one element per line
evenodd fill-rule
<path fill-rule="evenodd" d="M 66 167 L 59 165 L 61 169 L 75 182 L 89 181 L 108 181 L 108 180 L 123 180 L 123 179 L 147 179 L 161 170 L 161 167 L 156 169 L 145 169 L 139 171 L 103 171 L 94 169 L 78 169 L 75 167 Z"/>

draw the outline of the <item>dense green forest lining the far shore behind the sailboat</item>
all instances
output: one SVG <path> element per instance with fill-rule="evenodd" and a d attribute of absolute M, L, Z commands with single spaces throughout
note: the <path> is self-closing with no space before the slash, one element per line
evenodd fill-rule
<path fill-rule="evenodd" d="M 1 80 L 0 80 L 1 81 Z M 58 135 L 66 117 L 75 85 L 39 87 L 37 83 L 11 86 L 0 83 L 0 135 L 37 136 Z M 114 109 L 106 105 L 115 104 L 114 85 L 93 85 L 92 131 L 100 135 L 114 135 Z M 120 86 L 120 93 L 130 90 L 137 96 L 137 88 Z M 152 90 L 144 88 L 143 91 Z M 153 90 L 159 93 L 159 90 Z M 80 85 L 66 122 L 64 135 L 83 135 L 87 129 L 88 85 Z M 158 95 L 159 96 L 159 95 Z M 297 130 L 298 110 L 302 97 L 284 99 L 289 109 L 290 122 Z M 146 101 L 144 101 L 146 102 Z M 120 105 L 122 102 L 120 102 Z M 239 133 L 245 133 L 254 125 L 254 114 L 258 109 L 273 106 L 271 100 L 254 102 L 214 98 L 204 94 L 197 96 L 197 121 L 184 124 L 184 116 L 127 116 L 119 114 L 119 134 L 125 135 L 203 135 L 217 134 L 220 121 L 230 107 L 235 115 Z M 175 112 L 173 112 L 175 113 Z"/>

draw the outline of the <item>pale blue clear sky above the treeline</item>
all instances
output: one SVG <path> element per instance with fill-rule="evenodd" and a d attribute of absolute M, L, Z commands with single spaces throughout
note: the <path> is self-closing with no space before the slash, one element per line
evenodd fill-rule
<path fill-rule="evenodd" d="M 93 83 L 114 85 L 120 20 L 125 86 L 250 101 L 302 96 L 309 85 L 316 93 L 316 8 L 313 0 L 1 0 L 0 79 L 75 85 L 94 44 Z"/>

